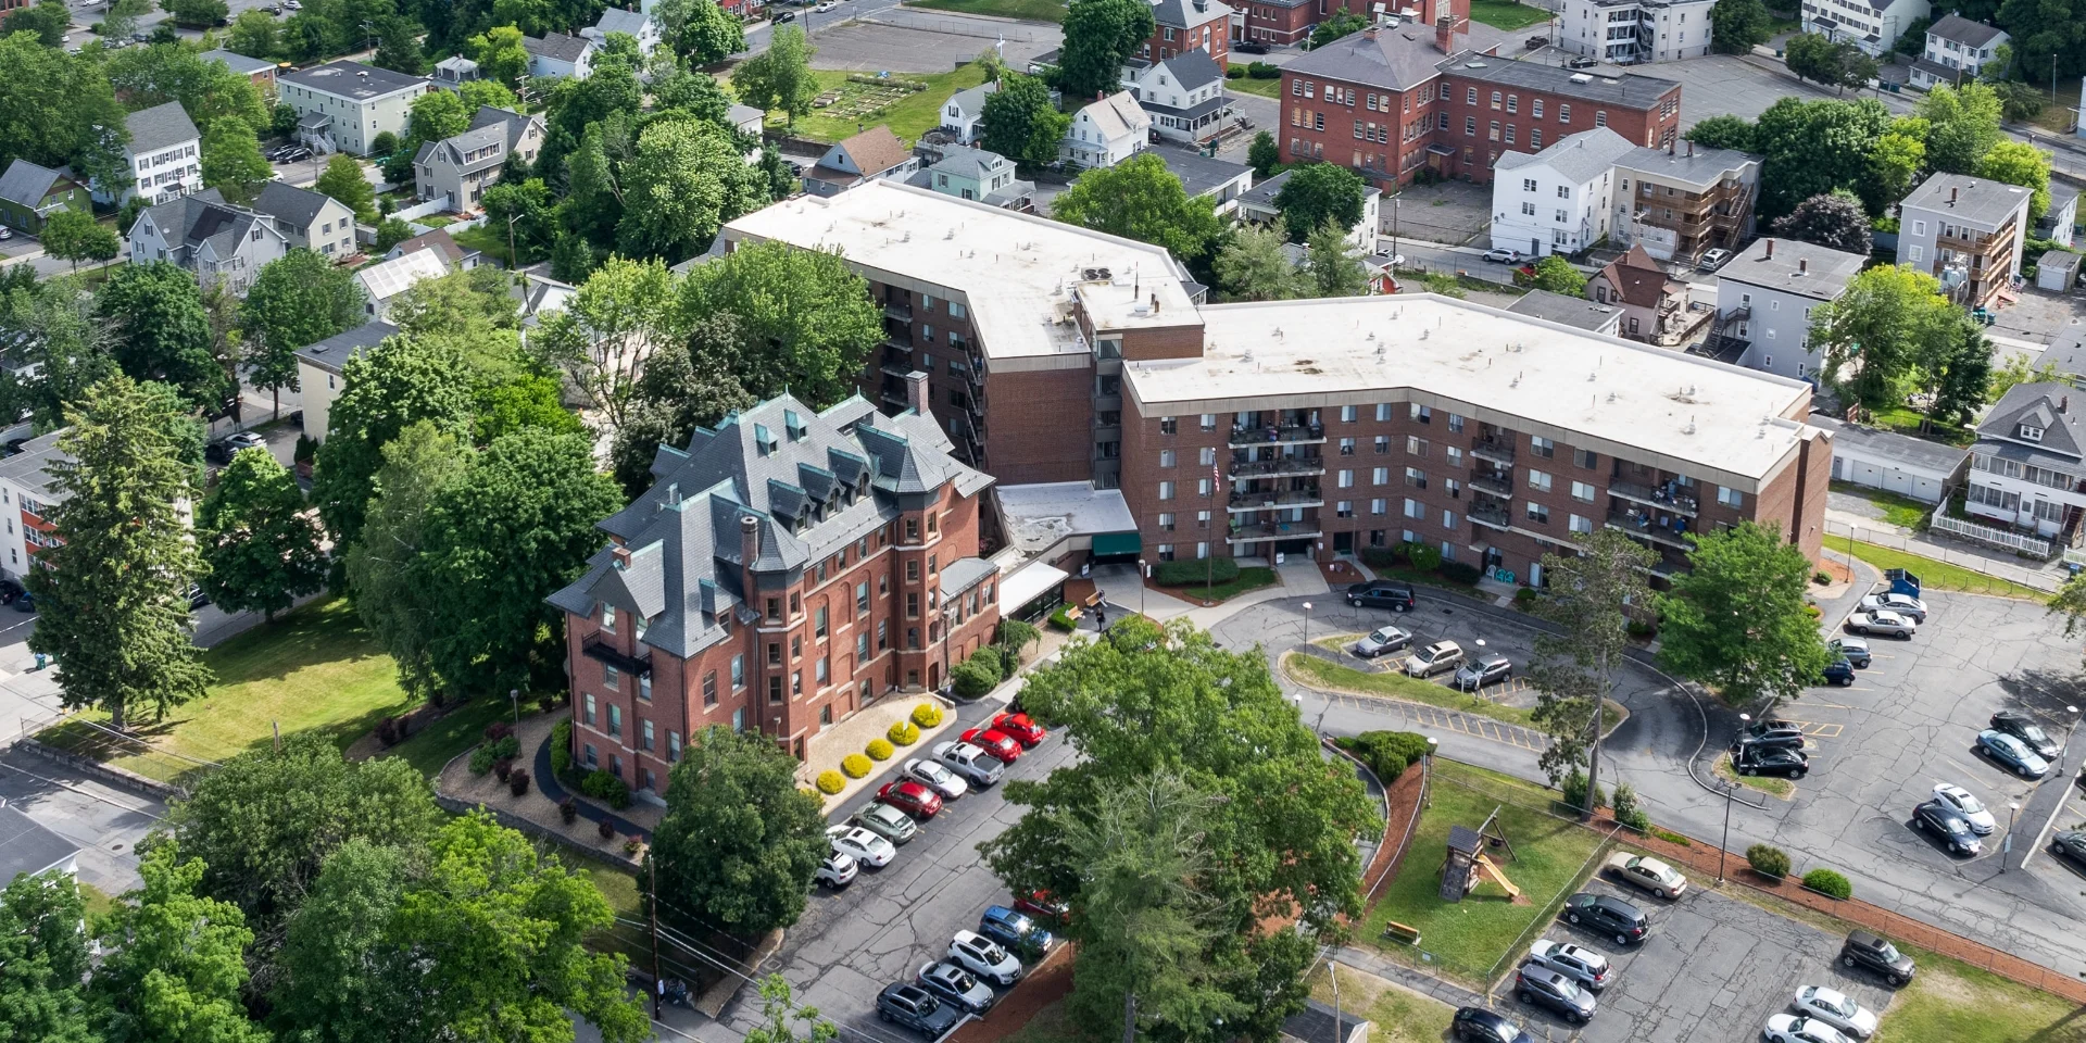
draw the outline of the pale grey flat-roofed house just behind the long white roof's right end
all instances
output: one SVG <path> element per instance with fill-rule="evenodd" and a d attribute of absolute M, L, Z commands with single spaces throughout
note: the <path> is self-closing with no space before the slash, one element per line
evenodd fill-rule
<path fill-rule="evenodd" d="M 1704 350 L 1784 378 L 1817 380 L 1811 309 L 1838 300 L 1869 259 L 1800 240 L 1754 240 L 1717 269 L 1717 319 Z"/>

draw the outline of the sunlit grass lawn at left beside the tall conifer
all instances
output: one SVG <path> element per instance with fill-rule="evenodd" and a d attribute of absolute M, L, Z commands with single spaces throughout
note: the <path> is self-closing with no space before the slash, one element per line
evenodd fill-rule
<path fill-rule="evenodd" d="M 165 720 L 142 724 L 138 734 L 159 751 L 221 761 L 284 734 L 319 732 L 342 749 L 403 713 L 411 701 L 398 688 L 398 670 L 375 636 L 363 630 L 344 599 L 313 601 L 202 653 L 217 684 Z M 106 713 L 90 713 L 96 724 Z M 125 743 L 67 722 L 40 738 L 90 751 L 108 763 L 150 778 L 175 778 L 186 766 L 167 755 L 140 755 Z M 127 747 L 127 749 L 125 749 Z"/>

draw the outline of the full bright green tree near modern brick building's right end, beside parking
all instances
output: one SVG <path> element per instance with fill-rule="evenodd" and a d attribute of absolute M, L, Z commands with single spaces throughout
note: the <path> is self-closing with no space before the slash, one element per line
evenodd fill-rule
<path fill-rule="evenodd" d="M 1690 532 L 1690 569 L 1658 595 L 1658 665 L 1765 718 L 1832 663 L 1804 590 L 1811 561 L 1777 526 Z"/>

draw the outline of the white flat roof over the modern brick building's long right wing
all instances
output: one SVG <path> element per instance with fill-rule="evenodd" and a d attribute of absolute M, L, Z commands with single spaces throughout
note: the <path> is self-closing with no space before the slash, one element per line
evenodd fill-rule
<path fill-rule="evenodd" d="M 1811 398 L 1800 380 L 1433 294 L 1212 305 L 1202 315 L 1202 359 L 1124 363 L 1124 386 L 1145 415 L 1172 403 L 1179 413 L 1283 398 L 1439 403 L 1519 432 L 1754 482 L 1775 474 L 1809 430 L 1781 419 Z M 1437 430 L 1454 438 L 1439 421 Z"/>

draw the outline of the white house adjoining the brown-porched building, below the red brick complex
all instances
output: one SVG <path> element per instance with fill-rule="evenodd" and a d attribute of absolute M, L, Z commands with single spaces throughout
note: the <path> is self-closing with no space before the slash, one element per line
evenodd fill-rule
<path fill-rule="evenodd" d="M 1608 127 L 1506 152 L 1491 173 L 1491 246 L 1533 257 L 1577 252 L 1608 234 L 1615 163 L 1635 150 Z"/>

